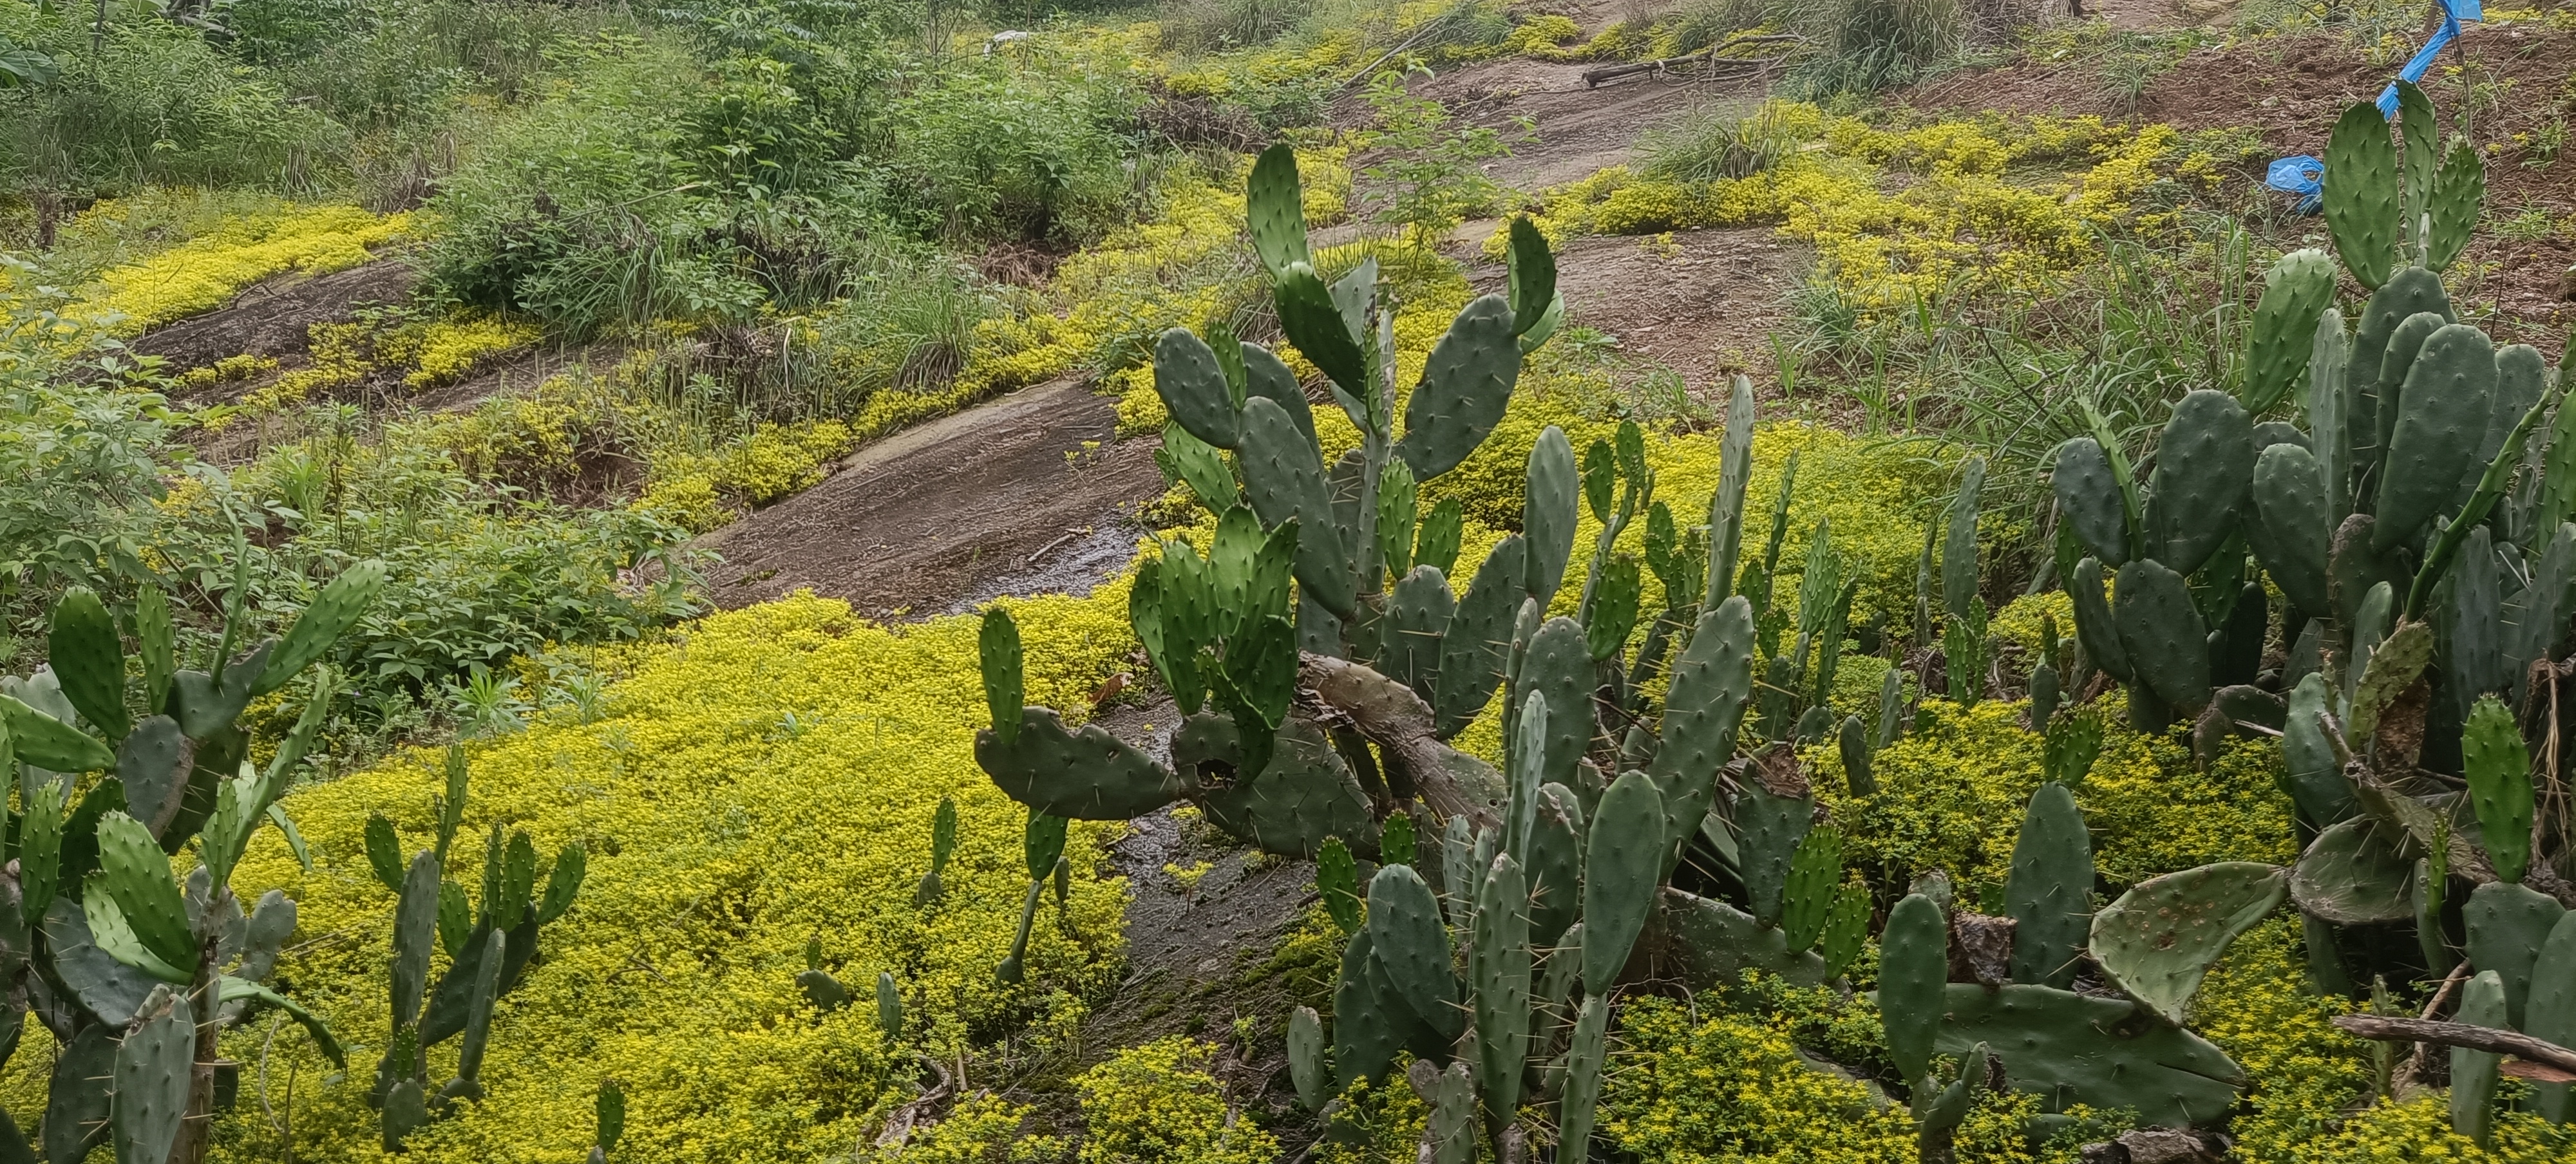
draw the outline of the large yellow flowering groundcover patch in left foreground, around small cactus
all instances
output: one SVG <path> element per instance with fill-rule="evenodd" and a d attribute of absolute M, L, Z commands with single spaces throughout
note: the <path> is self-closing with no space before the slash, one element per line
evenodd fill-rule
<path fill-rule="evenodd" d="M 1123 582 L 1012 605 L 1033 700 L 1082 706 L 1133 649 Z M 590 878 L 500 1004 L 489 1100 L 433 1125 L 404 1159 L 580 1159 L 603 1079 L 629 1092 L 621 1159 L 848 1154 L 902 1097 L 909 1051 L 956 1064 L 969 1040 L 1015 1028 L 1046 1046 L 1041 1035 L 1069 1030 L 1079 997 L 1118 966 L 1123 883 L 1095 876 L 1108 827 L 1082 824 L 1066 850 L 1069 914 L 1048 896 L 1028 984 L 994 981 L 1025 888 L 1025 811 L 971 757 L 971 731 L 987 718 L 974 618 L 884 628 L 845 603 L 796 597 L 706 618 L 603 664 L 626 677 L 595 721 L 556 716 L 469 747 L 456 878 L 479 878 L 495 821 L 528 829 L 541 852 L 587 845 Z M 330 1066 L 291 1025 L 273 1043 L 265 1028 L 229 1035 L 227 1053 L 252 1069 L 216 1133 L 222 1159 L 283 1159 L 263 1107 L 291 1118 L 299 1161 L 384 1159 L 366 1079 L 386 1038 L 394 896 L 376 883 L 361 832 L 384 811 L 407 850 L 425 847 L 438 785 L 438 755 L 420 752 L 304 788 L 286 809 L 314 868 L 301 870 L 268 829 L 234 876 L 245 896 L 283 888 L 299 901 L 299 937 L 278 976 L 350 1043 L 353 1071 L 325 1082 Z M 945 896 L 917 909 L 940 796 L 958 801 L 958 850 Z M 871 1004 L 824 1017 L 804 1002 L 793 973 L 809 940 L 863 997 L 878 971 L 896 976 L 912 1020 L 891 1053 L 904 1058 L 881 1048 Z M 41 1112 L 52 1058 L 33 1030 L 28 1043 L 0 1082 L 21 1125 Z M 453 1056 L 456 1043 L 440 1046 L 430 1069 L 451 1071 Z"/>

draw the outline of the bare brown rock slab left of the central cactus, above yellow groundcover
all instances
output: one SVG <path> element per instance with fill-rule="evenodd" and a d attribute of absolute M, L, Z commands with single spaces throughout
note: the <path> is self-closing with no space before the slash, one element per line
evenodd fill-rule
<path fill-rule="evenodd" d="M 1162 494 L 1154 440 L 1059 379 L 909 427 L 822 484 L 701 543 L 724 556 L 719 605 L 814 590 L 871 618 L 922 618 L 997 595 L 1087 592 L 1126 564 L 1128 515 Z"/>

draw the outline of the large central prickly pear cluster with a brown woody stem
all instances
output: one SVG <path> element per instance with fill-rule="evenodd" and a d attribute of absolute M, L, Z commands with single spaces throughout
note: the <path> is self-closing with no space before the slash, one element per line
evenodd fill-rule
<path fill-rule="evenodd" d="M 1270 350 L 1164 332 L 1164 448 L 1218 512 L 1206 551 L 1162 543 L 1131 600 L 1185 716 L 1172 762 L 1025 706 L 1002 610 L 984 623 L 992 729 L 976 734 L 976 760 L 1030 809 L 1033 837 L 1048 819 L 1190 801 L 1244 842 L 1316 858 L 1350 943 L 1332 1030 L 1291 1015 L 1298 1094 L 1329 1107 L 1409 1053 L 1409 1084 L 1432 1107 L 1425 1159 L 1530 1159 L 1548 1138 L 1579 1159 L 1620 981 L 1716 986 L 1765 968 L 1821 984 L 1865 945 L 1868 896 L 1844 883 L 1839 832 L 1816 827 L 1790 747 L 1834 731 L 1821 708 L 1852 582 L 1819 528 L 1798 634 L 1783 641 L 1790 623 L 1770 582 L 1785 489 L 1767 551 L 1739 569 L 1754 420 L 1739 376 L 1705 525 L 1654 497 L 1636 425 L 1584 456 L 1548 427 L 1528 451 L 1520 533 L 1461 595 L 1448 577 L 1458 505 L 1425 510 L 1419 497 L 1489 438 L 1522 355 L 1556 327 L 1543 237 L 1510 227 L 1507 291 L 1458 312 L 1399 433 L 1391 304 L 1373 263 L 1316 276 L 1288 149 L 1255 165 L 1249 219 L 1280 330 L 1327 376 L 1358 448 L 1327 466 L 1306 391 Z M 1582 512 L 1600 536 L 1582 590 L 1561 600 Z M 1643 561 L 1618 549 L 1638 523 Z M 1643 610 L 1649 572 L 1656 613 Z M 1548 618 L 1551 605 L 1574 615 Z M 1757 659 L 1775 688 L 1759 708 Z M 1502 773 L 1448 744 L 1497 693 Z M 1749 713 L 1772 744 L 1739 760 Z M 1414 819 L 1435 827 L 1417 837 Z M 1744 888 L 1752 909 L 1674 888 L 1685 860 Z M 1376 865 L 1365 888 L 1363 865 Z M 1038 883 L 1033 845 L 1030 904 Z M 1018 958 L 1005 963 L 1015 971 Z"/>

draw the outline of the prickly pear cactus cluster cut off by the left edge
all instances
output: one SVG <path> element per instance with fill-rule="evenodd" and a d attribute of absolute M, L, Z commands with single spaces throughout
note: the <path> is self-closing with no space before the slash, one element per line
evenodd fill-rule
<path fill-rule="evenodd" d="M 18 793 L 5 837 L 15 860 L 0 870 L 0 1061 L 28 1015 L 62 1048 L 39 1131 L 46 1159 L 108 1141 L 118 1161 L 206 1159 L 211 1112 L 240 1079 L 216 1035 L 258 1007 L 283 1009 L 343 1061 L 312 1012 L 265 986 L 296 930 L 294 901 L 268 891 L 245 909 L 232 894 L 263 821 L 304 858 L 278 798 L 322 729 L 332 677 L 312 680 L 265 767 L 250 762 L 240 716 L 327 654 L 384 587 L 384 567 L 350 567 L 258 646 L 240 636 L 242 582 L 204 670 L 180 667 L 157 587 L 134 605 L 134 657 L 106 603 L 75 587 L 54 605 L 49 664 L 0 680 L 0 780 Z M 198 868 L 173 878 L 170 858 L 191 845 Z M 33 1159 L 5 1112 L 0 1159 Z"/>

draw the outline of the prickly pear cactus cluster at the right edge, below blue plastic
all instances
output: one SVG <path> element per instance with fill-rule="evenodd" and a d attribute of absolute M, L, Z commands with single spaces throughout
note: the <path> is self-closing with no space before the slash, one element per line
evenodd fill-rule
<path fill-rule="evenodd" d="M 2066 688 L 2099 670 L 2128 685 L 2143 729 L 2192 716 L 2202 742 L 2280 734 L 2306 842 L 2290 870 L 2210 865 L 2141 883 L 2094 914 L 2084 953 L 2123 1007 L 2172 1022 L 2208 966 L 2200 950 L 2287 891 L 2321 989 L 2385 1009 L 2391 981 L 2455 979 L 2437 994 L 2458 999 L 2458 1022 L 2568 1046 L 2576 847 L 2563 816 L 2535 811 L 2535 770 L 2563 785 L 2550 742 L 2571 667 L 2553 657 L 2576 613 L 2576 409 L 2563 361 L 2553 371 L 2540 350 L 2458 322 L 2439 270 L 2476 224 L 2478 155 L 2465 142 L 2442 155 L 2414 85 L 2401 85 L 2398 126 L 2403 144 L 2357 103 L 2326 157 L 2334 252 L 2370 294 L 2357 327 L 2334 306 L 2336 263 L 2293 252 L 2251 317 L 2241 391 L 2182 397 L 2143 476 L 2099 415 L 2094 435 L 2056 453 L 2081 644 Z M 2259 677 L 2269 592 L 2285 605 L 2277 682 Z M 2038 801 L 2025 847 L 2035 827 Z M 2020 899 L 2020 852 L 2012 876 Z M 1932 909 L 1906 899 L 1888 922 L 1891 1046 L 1919 1028 L 1965 1051 L 2002 999 L 2053 986 L 1981 999 L 1947 984 L 1937 1025 L 1924 1020 L 1935 991 L 1922 979 L 1942 981 L 1932 937 L 1955 932 Z M 2166 943 L 2174 919 L 2195 930 Z M 2025 919 L 2014 943 L 2030 935 Z M 2014 945 L 2017 979 L 2025 966 Z M 2022 1084 L 2012 1061 L 2035 1051 L 1986 1043 Z M 1909 1074 L 1927 1046 L 1901 1048 Z M 2483 1141 L 2499 1056 L 2450 1056 L 2452 1123 Z M 2164 1079 L 2174 1102 L 2156 1115 L 2226 1107 L 2182 1074 Z M 2563 1123 L 2568 1087 L 2543 1084 L 2535 1107 Z"/>

